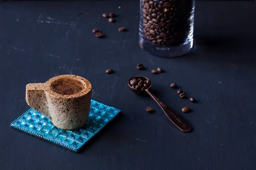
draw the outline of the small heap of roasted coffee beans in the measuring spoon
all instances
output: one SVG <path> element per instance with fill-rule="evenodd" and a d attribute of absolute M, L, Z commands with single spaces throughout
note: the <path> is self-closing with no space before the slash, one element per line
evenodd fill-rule
<path fill-rule="evenodd" d="M 149 79 L 145 79 L 144 77 L 135 77 L 129 81 L 131 88 L 138 90 L 148 89 L 151 85 L 151 81 Z"/>

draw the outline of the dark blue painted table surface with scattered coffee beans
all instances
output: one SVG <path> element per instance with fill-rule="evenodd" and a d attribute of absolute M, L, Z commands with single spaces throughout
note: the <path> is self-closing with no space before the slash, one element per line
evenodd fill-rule
<path fill-rule="evenodd" d="M 102 18 L 111 11 L 116 23 Z M 0 3 L 0 169 L 255 169 L 255 2 L 197 1 L 194 48 L 172 59 L 140 49 L 138 23 L 136 0 Z M 128 31 L 119 33 L 121 26 Z M 138 71 L 139 63 L 147 69 Z M 151 74 L 157 67 L 165 73 Z M 26 84 L 60 74 L 85 77 L 93 99 L 122 110 L 81 153 L 9 127 L 29 108 Z M 135 75 L 150 78 L 156 96 L 178 113 L 191 107 L 182 115 L 193 131 L 180 132 L 151 98 L 131 93 L 127 81 Z M 179 99 L 172 82 L 198 103 Z"/>

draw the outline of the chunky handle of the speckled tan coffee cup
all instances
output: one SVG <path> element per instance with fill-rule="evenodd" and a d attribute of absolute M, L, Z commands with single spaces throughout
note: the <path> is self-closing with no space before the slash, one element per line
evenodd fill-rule
<path fill-rule="evenodd" d="M 45 83 L 30 83 L 26 85 L 26 102 L 31 108 L 43 113 L 51 120 L 45 93 L 46 89 Z"/>

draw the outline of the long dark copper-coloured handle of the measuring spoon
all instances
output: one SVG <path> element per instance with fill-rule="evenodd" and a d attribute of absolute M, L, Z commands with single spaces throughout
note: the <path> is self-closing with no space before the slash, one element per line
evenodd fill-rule
<path fill-rule="evenodd" d="M 191 130 L 191 126 L 185 119 L 183 119 L 177 112 L 173 111 L 171 108 L 163 104 L 159 99 L 157 99 L 154 94 L 152 94 L 148 89 L 145 90 L 153 99 L 157 102 L 160 108 L 163 109 L 163 112 L 170 119 L 170 121 L 177 126 L 183 132 L 189 132 Z"/>

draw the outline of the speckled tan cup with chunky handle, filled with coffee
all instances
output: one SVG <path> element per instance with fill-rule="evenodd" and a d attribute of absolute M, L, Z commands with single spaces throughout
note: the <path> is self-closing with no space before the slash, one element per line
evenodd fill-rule
<path fill-rule="evenodd" d="M 90 82 L 83 77 L 61 75 L 45 83 L 26 85 L 26 102 L 56 127 L 73 130 L 87 122 L 91 89 Z"/>

